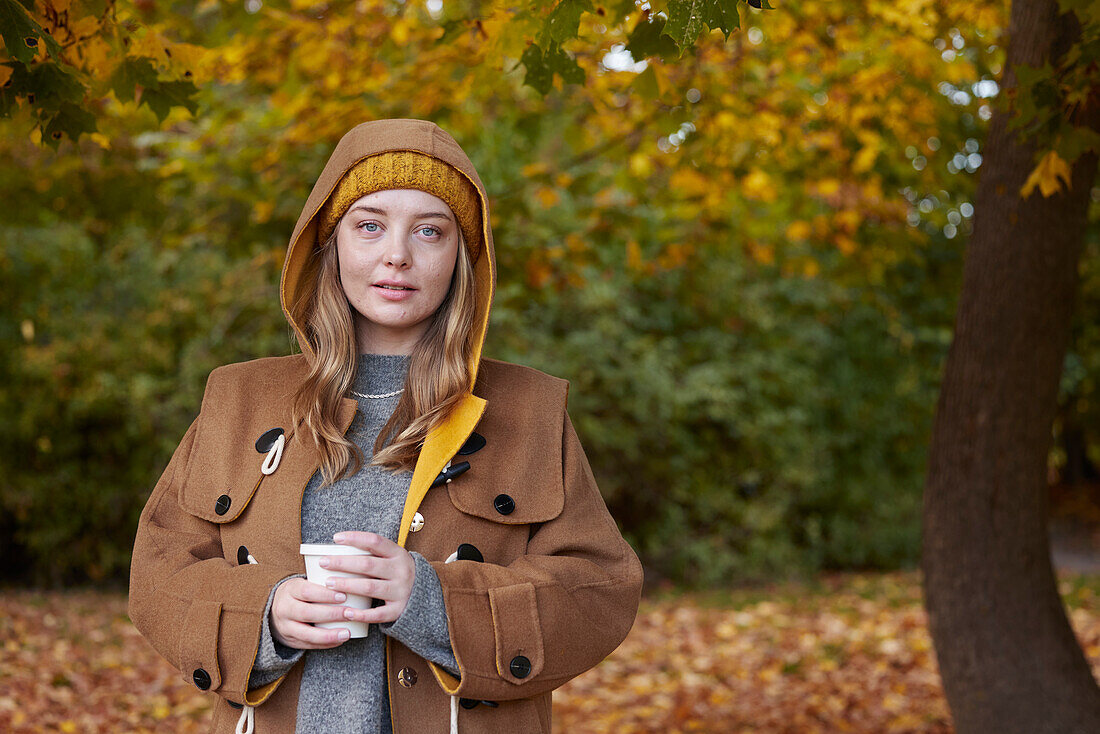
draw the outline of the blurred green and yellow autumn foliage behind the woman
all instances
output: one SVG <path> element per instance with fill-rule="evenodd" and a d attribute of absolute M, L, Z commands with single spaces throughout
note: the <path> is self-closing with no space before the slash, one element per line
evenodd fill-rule
<path fill-rule="evenodd" d="M 210 370 L 292 351 L 279 271 L 332 146 L 395 117 L 474 161 L 486 354 L 571 381 L 650 581 L 913 567 L 1008 21 L 958 4 L 738 2 L 678 55 L 663 3 L 572 2 L 539 88 L 552 3 L 40 0 L 95 119 L 0 110 L 3 580 L 125 582 Z M 1054 475 L 1100 460 L 1092 207 Z"/>

